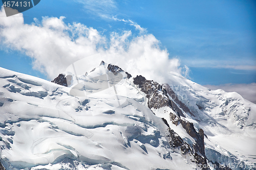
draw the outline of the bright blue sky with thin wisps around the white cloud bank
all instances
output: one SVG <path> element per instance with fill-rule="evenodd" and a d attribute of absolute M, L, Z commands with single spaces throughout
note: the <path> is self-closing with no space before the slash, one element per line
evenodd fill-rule
<path fill-rule="evenodd" d="M 66 26 L 76 22 L 97 30 L 106 41 L 102 48 L 107 50 L 113 33 L 120 38 L 131 31 L 124 46 L 131 45 L 138 37 L 153 35 L 154 40 L 159 41 L 158 52 L 168 53 L 169 59 L 178 59 L 179 70 L 182 72 L 186 65 L 189 68 L 186 76 L 202 85 L 256 82 L 255 1 L 42 0 L 23 12 L 24 23 L 31 28 L 33 25 L 44 28 L 42 17 L 45 16 L 64 16 L 62 21 Z M 4 30 L 3 26 L 0 29 Z M 46 69 L 40 69 L 44 61 L 33 57 L 41 49 L 31 51 L 6 39 L 5 35 L 0 35 L 0 67 L 52 79 Z M 52 67 L 54 64 L 59 65 L 53 61 Z"/>

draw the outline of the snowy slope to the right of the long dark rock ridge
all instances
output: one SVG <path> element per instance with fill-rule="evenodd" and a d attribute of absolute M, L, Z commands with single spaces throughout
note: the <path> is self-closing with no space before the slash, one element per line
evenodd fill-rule
<path fill-rule="evenodd" d="M 222 163 L 227 159 L 230 163 L 241 160 L 248 165 L 243 168 L 251 165 L 255 169 L 256 105 L 236 92 L 209 90 L 175 73 L 170 80 L 170 88 L 194 114 L 186 114 L 189 122 L 207 135 L 206 157 Z M 219 154 L 223 155 L 223 160 Z"/>

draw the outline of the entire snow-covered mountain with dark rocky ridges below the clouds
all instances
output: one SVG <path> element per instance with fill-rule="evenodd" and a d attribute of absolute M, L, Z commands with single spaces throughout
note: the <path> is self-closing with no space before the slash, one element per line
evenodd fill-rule
<path fill-rule="evenodd" d="M 6 169 L 256 169 L 256 105 L 238 93 L 104 62 L 88 72 L 48 82 L 0 68 Z"/>

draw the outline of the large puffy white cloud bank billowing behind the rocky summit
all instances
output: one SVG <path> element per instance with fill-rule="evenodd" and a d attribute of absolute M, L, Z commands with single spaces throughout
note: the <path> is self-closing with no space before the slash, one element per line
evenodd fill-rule
<path fill-rule="evenodd" d="M 133 76 L 143 75 L 160 83 L 166 83 L 169 72 L 182 74 L 188 70 L 180 66 L 178 59 L 168 58 L 167 50 L 160 48 L 155 36 L 140 29 L 137 36 L 131 31 L 112 32 L 107 39 L 81 23 L 66 24 L 63 16 L 34 19 L 28 25 L 23 14 L 7 18 L 2 8 L 0 17 L 1 45 L 31 57 L 33 69 L 51 80 L 73 62 L 97 53 L 103 61 L 119 65 Z"/>

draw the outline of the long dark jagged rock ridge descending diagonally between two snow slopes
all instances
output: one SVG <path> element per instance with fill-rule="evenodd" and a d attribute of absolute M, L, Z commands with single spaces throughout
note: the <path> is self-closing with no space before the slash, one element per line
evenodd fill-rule
<path fill-rule="evenodd" d="M 194 128 L 193 123 L 190 123 L 187 120 L 181 118 L 185 116 L 182 110 L 174 101 L 177 101 L 180 107 L 183 106 L 184 108 L 181 108 L 186 110 L 186 112 L 190 115 L 193 115 L 193 113 L 190 112 L 185 104 L 178 100 L 174 91 L 167 85 L 162 86 L 152 80 L 146 80 L 143 76 L 137 76 L 136 78 L 134 78 L 133 83 L 135 85 L 138 85 L 140 90 L 146 94 L 146 98 L 148 99 L 148 108 L 159 109 L 165 106 L 172 108 L 177 113 L 177 115 L 174 113 L 169 113 L 170 120 L 176 126 L 181 124 L 186 132 L 195 139 L 195 143 L 191 146 L 192 148 L 190 148 L 190 145 L 188 143 L 184 142 L 177 133 L 169 128 L 169 134 L 167 137 L 169 138 L 170 145 L 174 148 L 179 148 L 182 154 L 193 155 L 197 164 L 207 164 L 205 158 L 204 132 L 202 129 L 197 132 Z M 169 96 L 171 96 L 173 100 L 171 100 Z M 164 123 L 168 126 L 167 122 L 164 121 Z"/>

